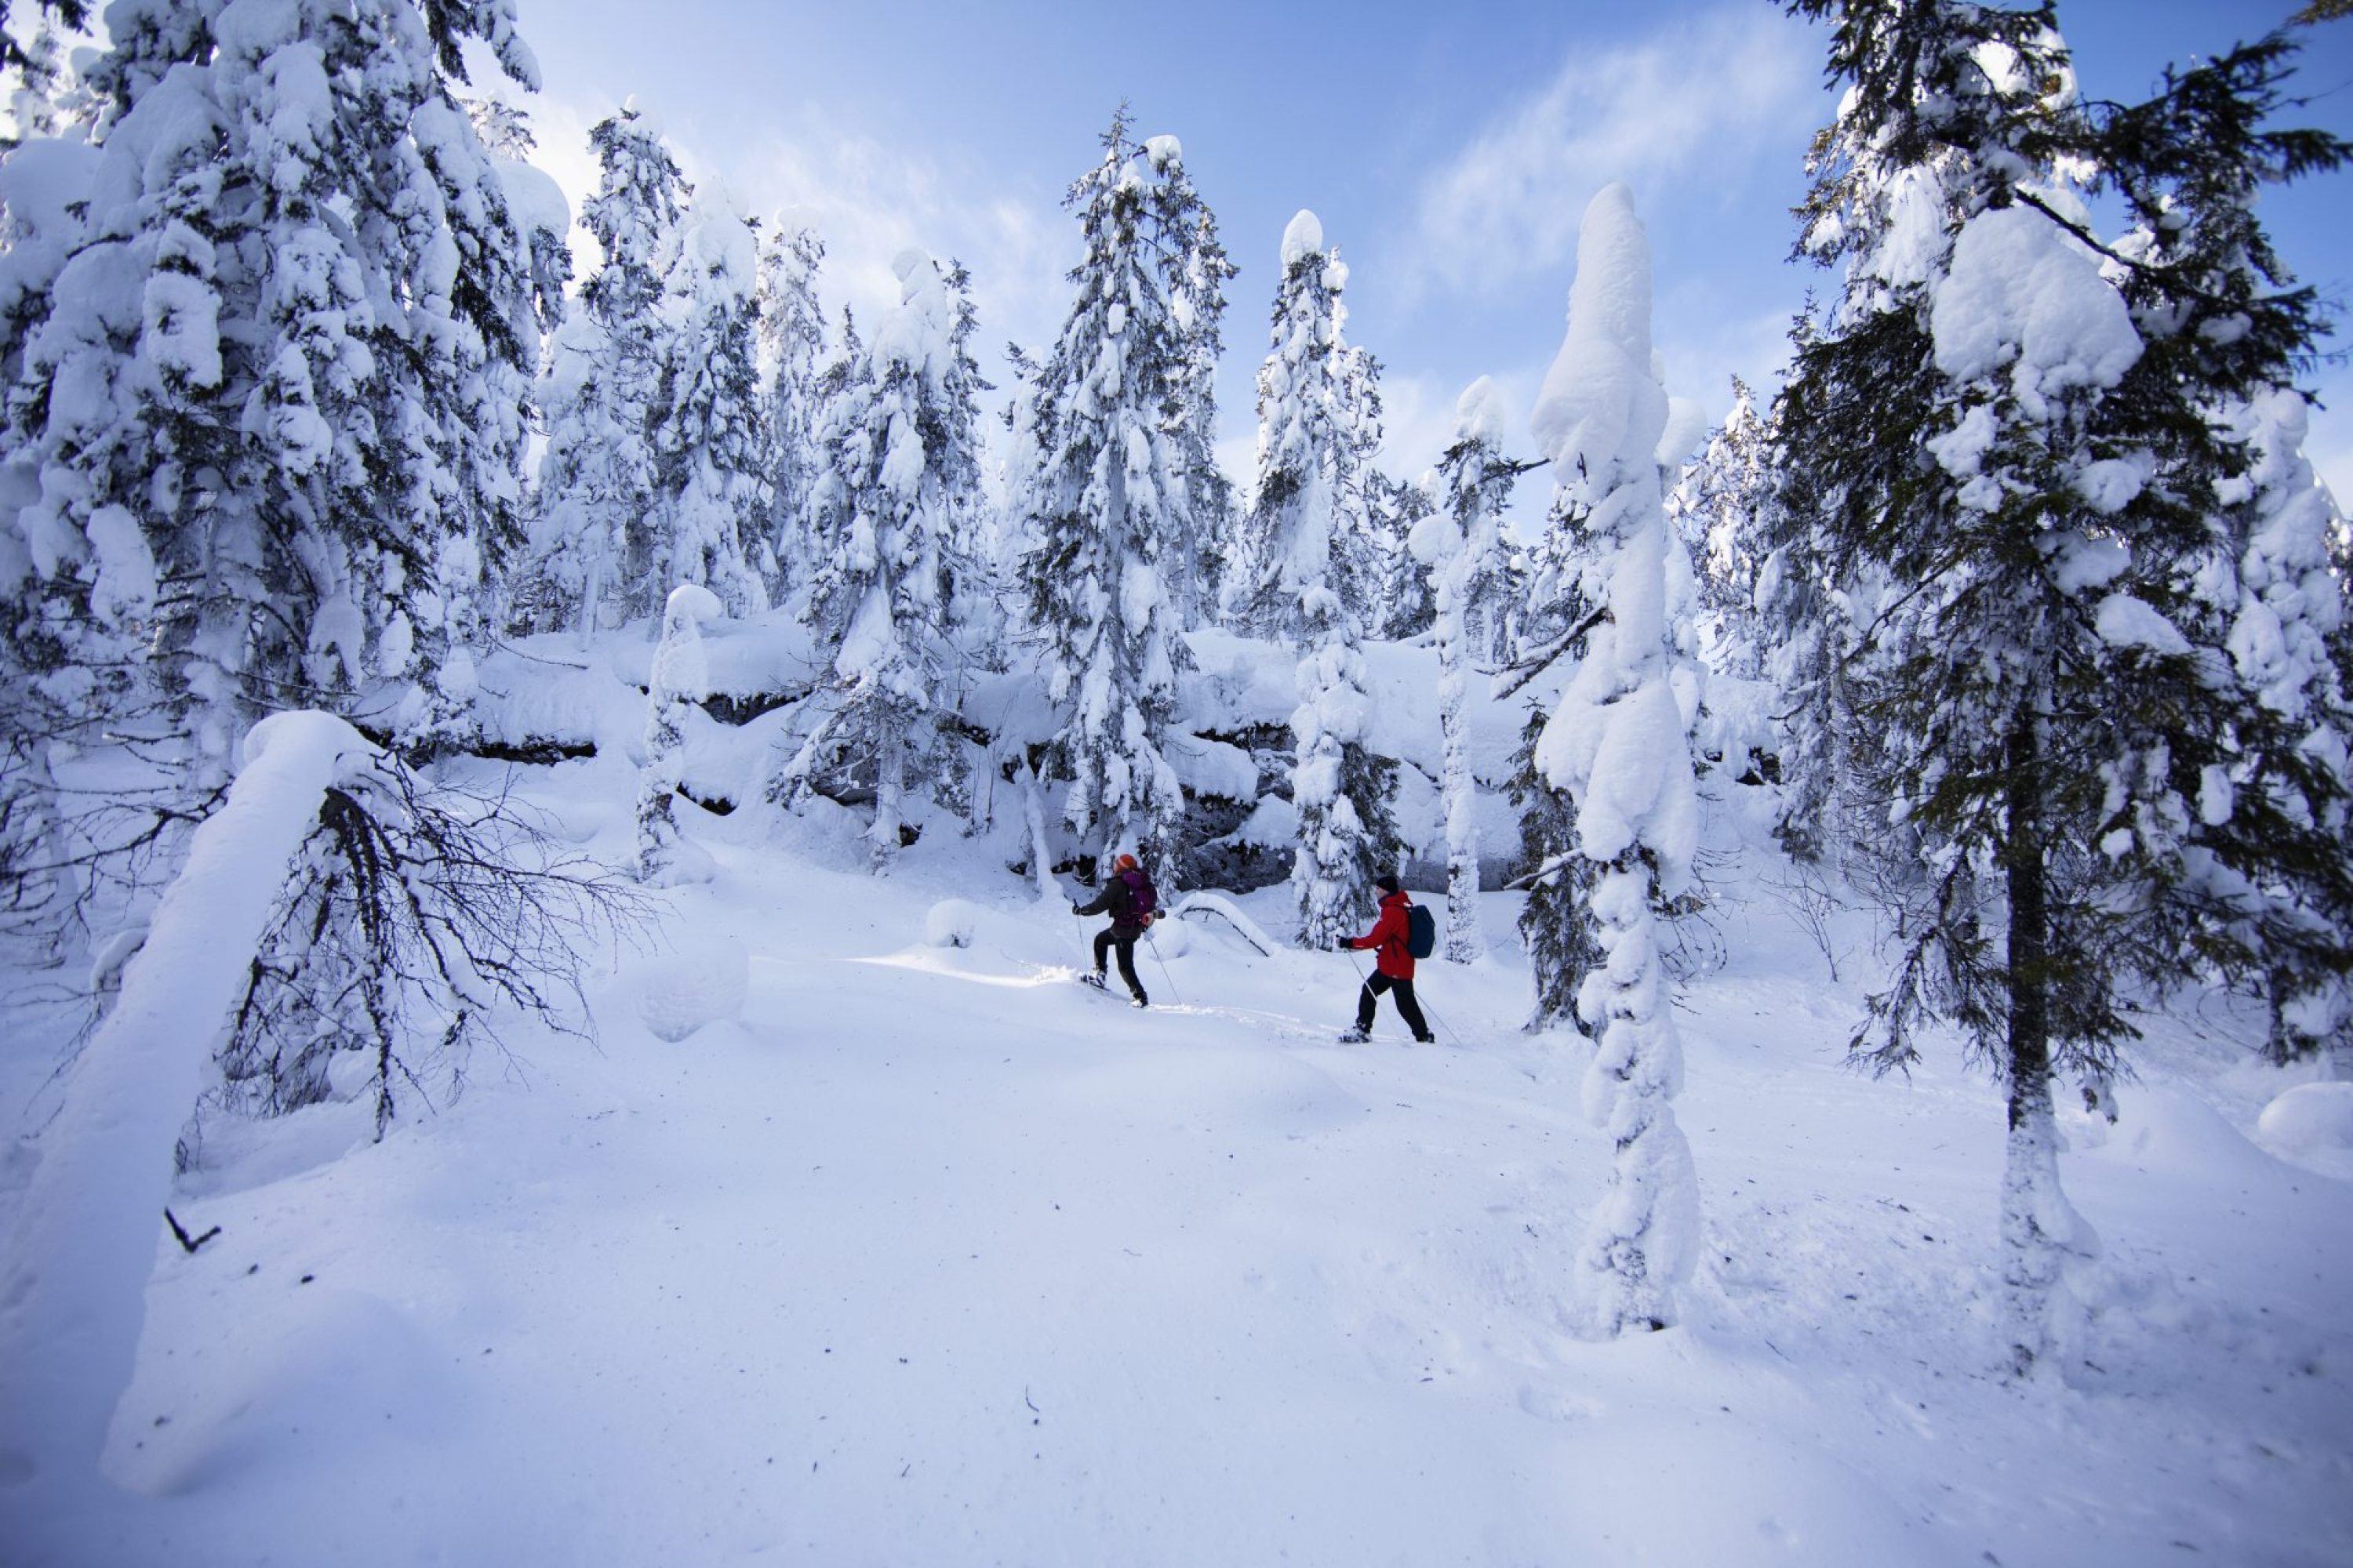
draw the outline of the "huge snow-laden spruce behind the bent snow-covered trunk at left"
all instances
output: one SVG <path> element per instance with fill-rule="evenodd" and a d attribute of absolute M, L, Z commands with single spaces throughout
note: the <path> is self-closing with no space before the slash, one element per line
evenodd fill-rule
<path fill-rule="evenodd" d="M 80 621 L 207 788 L 287 701 L 438 750 L 520 534 L 529 247 L 449 96 L 466 40 L 534 82 L 511 7 L 115 21 L 82 233 L 16 315 L 19 630 Z"/>

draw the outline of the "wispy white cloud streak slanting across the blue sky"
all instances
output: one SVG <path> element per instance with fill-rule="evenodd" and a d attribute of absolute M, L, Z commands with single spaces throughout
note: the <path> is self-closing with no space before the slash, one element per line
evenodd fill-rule
<path fill-rule="evenodd" d="M 1819 108 L 1807 28 L 1741 5 L 1647 42 L 1572 54 L 1541 94 L 1497 118 L 1433 174 L 1414 219 L 1419 287 L 1494 289 L 1560 266 L 1609 181 L 1732 181 L 1786 155 Z"/>

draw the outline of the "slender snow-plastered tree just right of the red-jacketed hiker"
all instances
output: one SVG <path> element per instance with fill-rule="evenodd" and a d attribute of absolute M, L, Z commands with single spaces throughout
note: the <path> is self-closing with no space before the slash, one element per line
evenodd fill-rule
<path fill-rule="evenodd" d="M 1504 592 L 1504 505 L 1520 465 L 1504 461 L 1504 409 L 1494 381 L 1480 376 L 1454 402 L 1454 442 L 1438 463 L 1445 512 L 1414 536 L 1417 555 L 1431 567 L 1438 607 L 1438 729 L 1445 755 L 1438 792 L 1447 823 L 1447 945 L 1454 964 L 1487 957 L 1478 917 L 1478 776 L 1471 771 L 1471 675 L 1473 628 L 1485 628 Z"/>

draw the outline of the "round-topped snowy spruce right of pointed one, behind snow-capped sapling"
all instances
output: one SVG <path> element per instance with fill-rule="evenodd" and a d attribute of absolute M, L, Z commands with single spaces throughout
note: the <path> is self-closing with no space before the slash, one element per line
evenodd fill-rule
<path fill-rule="evenodd" d="M 732 616 L 769 604 L 767 437 L 755 331 L 760 242 L 718 188 L 696 197 L 668 282 L 654 386 L 654 581 L 701 583 Z"/>

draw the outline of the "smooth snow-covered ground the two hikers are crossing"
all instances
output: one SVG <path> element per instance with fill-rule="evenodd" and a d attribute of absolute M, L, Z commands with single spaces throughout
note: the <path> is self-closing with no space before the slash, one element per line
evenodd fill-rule
<path fill-rule="evenodd" d="M 628 858 L 626 766 L 527 773 Z M 1351 957 L 1167 922 L 1139 1013 L 1071 983 L 1085 929 L 1007 839 L 873 879 L 840 825 L 682 811 L 718 875 L 609 966 L 598 1046 L 518 1037 L 384 1143 L 360 1100 L 209 1124 L 174 1213 L 221 1234 L 158 1234 L 129 1497 L 0 1516 L 0 1556 L 2353 1561 L 2353 1168 L 2259 1147 L 2292 1079 L 2221 1001 L 2151 1025 L 2115 1128 L 2068 1124 L 2101 1309 L 2073 1387 L 2019 1389 L 1993 1086 L 1847 1072 L 1864 917 L 1833 983 L 1718 851 L 1680 1016 L 1706 1251 L 1682 1326 L 1598 1345 L 1562 1291 L 1609 1150 L 1584 1046 L 1518 1032 L 1513 896 L 1494 959 L 1424 966 L 1440 1046 L 1386 1004 L 1341 1046 Z M 1280 936 L 1287 898 L 1242 907 Z M 64 1027 L 16 987 L 12 1135 Z"/>

